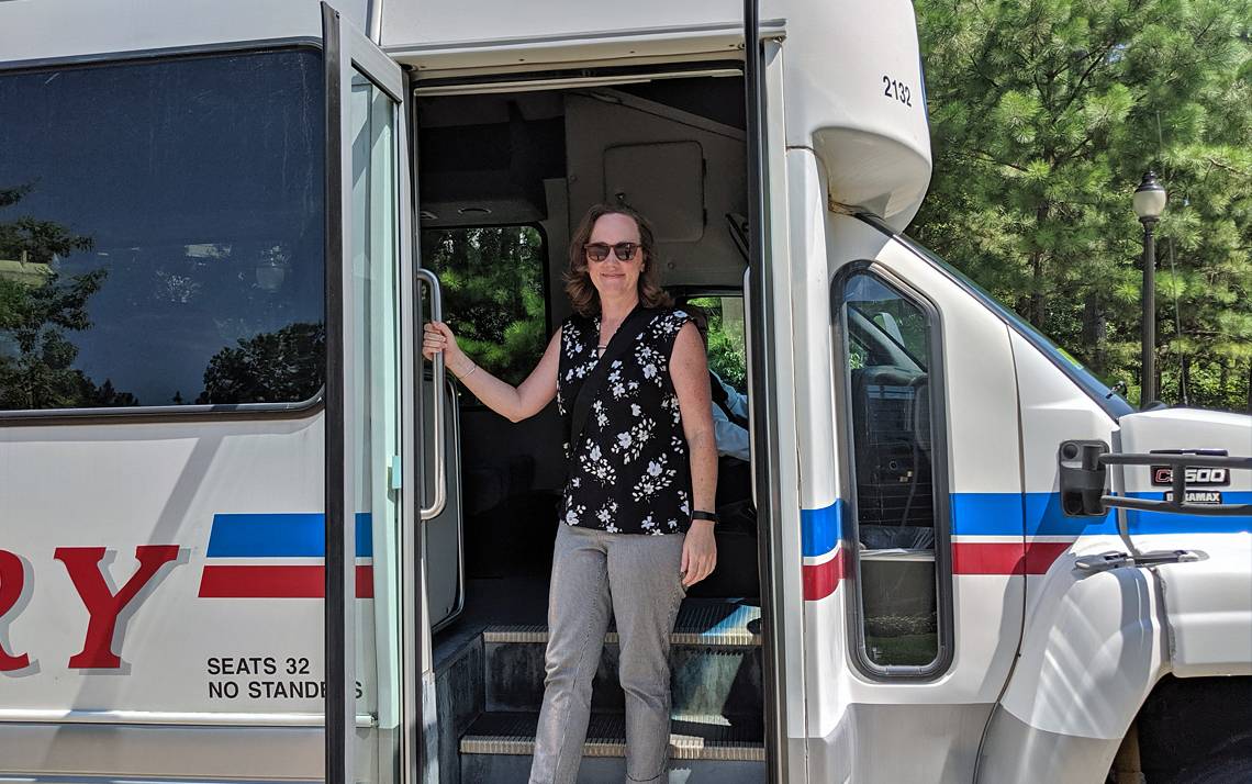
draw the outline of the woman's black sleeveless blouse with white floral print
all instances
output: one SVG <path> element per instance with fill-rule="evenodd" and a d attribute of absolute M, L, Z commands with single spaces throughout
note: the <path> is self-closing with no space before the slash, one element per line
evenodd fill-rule
<path fill-rule="evenodd" d="M 573 407 L 600 362 L 600 318 L 571 316 L 561 326 L 556 403 L 568 461 L 566 525 L 656 535 L 690 526 L 691 461 L 670 378 L 674 341 L 690 319 L 684 311 L 659 309 L 629 327 L 635 334 L 615 336 L 630 338 L 630 347 L 611 359 L 577 445 L 568 443 Z"/>

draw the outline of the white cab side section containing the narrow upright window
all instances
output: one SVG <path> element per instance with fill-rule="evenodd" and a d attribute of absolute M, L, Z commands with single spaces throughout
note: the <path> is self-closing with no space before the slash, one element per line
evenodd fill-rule
<path fill-rule="evenodd" d="M 806 605 L 843 639 L 810 647 L 830 659 L 809 666 L 810 779 L 968 781 L 1033 567 L 1009 332 L 885 225 L 826 223 L 850 259 L 830 291 L 843 585 L 813 597 L 843 611 Z"/>

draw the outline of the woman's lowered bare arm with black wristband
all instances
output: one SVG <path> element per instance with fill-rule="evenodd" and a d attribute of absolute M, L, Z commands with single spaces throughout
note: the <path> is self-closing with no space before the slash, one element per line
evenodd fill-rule
<path fill-rule="evenodd" d="M 692 511 L 714 511 L 717 495 L 717 443 L 712 428 L 712 401 L 709 396 L 709 361 L 704 342 L 692 323 L 686 323 L 674 341 L 670 378 L 679 395 L 682 433 L 691 453 Z M 692 520 L 682 542 L 682 585 L 691 586 L 707 577 L 717 565 L 714 522 Z"/>

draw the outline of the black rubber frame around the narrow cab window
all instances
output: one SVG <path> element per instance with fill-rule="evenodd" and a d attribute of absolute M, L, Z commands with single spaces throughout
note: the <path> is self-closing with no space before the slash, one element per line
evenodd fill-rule
<path fill-rule="evenodd" d="M 856 457 L 853 438 L 853 389 L 849 367 L 848 314 L 844 298 L 849 282 L 859 276 L 869 276 L 881 286 L 894 291 L 903 299 L 919 308 L 926 317 L 926 348 L 929 366 L 926 374 L 930 387 L 930 483 L 934 505 L 934 564 L 935 564 L 935 625 L 938 650 L 926 665 L 881 665 L 869 658 L 865 640 L 860 580 L 860 521 L 856 503 Z M 945 674 L 955 654 L 955 629 L 953 610 L 952 571 L 952 487 L 948 481 L 948 418 L 947 377 L 944 363 L 943 316 L 935 303 L 911 287 L 906 281 L 873 260 L 858 260 L 845 266 L 831 283 L 831 328 L 835 351 L 835 423 L 839 430 L 838 455 L 843 470 L 840 483 L 845 488 L 846 520 L 844 547 L 850 554 L 845 565 L 848 642 L 856 670 L 875 681 L 931 681 Z"/>

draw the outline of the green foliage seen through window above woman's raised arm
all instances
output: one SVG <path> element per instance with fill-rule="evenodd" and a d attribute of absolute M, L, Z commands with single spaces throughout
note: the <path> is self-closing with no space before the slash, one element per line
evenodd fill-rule
<path fill-rule="evenodd" d="M 543 237 L 532 227 L 427 229 L 422 260 L 439 276 L 444 321 L 462 351 L 517 384 L 547 346 Z"/>

